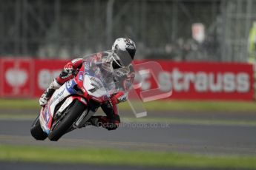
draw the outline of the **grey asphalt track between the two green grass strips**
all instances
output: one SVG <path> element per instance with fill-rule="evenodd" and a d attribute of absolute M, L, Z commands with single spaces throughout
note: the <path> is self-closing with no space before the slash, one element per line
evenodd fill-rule
<path fill-rule="evenodd" d="M 160 113 L 164 117 L 166 113 Z M 178 114 L 180 117 L 205 118 L 206 115 Z M 175 114 L 174 114 L 175 115 Z M 173 115 L 173 116 L 174 116 Z M 214 114 L 220 117 L 223 114 Z M 223 115 L 223 119 L 243 118 L 243 115 Z M 248 114 L 244 119 L 255 119 Z M 131 123 L 115 131 L 88 127 L 76 129 L 58 142 L 36 141 L 30 136 L 33 120 L 0 120 L 0 143 L 33 146 L 102 147 L 129 150 L 153 150 L 200 154 L 256 154 L 255 126 L 214 126 L 189 124 Z M 71 166 L 71 165 L 70 165 Z M 86 168 L 85 168 L 86 166 Z M 1 169 L 62 169 L 62 165 L 38 166 L 36 163 L 3 163 Z M 51 168 L 49 168 L 51 167 Z M 68 166 L 66 166 L 67 168 Z M 77 165 L 72 169 L 125 169 L 119 166 Z M 148 169 L 128 167 L 127 169 Z M 154 169 L 154 168 L 152 168 Z M 157 168 L 159 169 L 159 168 Z"/>

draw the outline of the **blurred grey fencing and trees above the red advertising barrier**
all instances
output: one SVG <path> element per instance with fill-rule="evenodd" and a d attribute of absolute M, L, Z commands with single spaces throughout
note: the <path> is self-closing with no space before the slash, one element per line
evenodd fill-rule
<path fill-rule="evenodd" d="M 2 3 L 2 56 L 70 58 L 108 50 L 117 37 L 137 43 L 137 58 L 246 62 L 255 50 L 254 0 Z"/>

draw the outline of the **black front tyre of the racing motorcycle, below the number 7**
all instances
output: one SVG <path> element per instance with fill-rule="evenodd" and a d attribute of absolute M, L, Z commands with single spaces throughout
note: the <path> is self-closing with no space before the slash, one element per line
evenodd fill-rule
<path fill-rule="evenodd" d="M 73 106 L 70 107 L 68 112 L 65 114 L 65 118 L 63 118 L 53 130 L 48 135 L 48 138 L 52 141 L 59 140 L 65 132 L 70 129 L 70 126 L 76 121 L 76 119 L 84 112 L 86 109 L 85 104 L 81 103 L 80 101 L 76 100 L 73 103 Z"/>

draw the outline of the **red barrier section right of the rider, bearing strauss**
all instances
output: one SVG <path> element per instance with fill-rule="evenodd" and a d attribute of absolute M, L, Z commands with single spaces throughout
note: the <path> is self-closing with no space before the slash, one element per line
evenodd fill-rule
<path fill-rule="evenodd" d="M 140 62 L 137 63 L 140 65 Z M 171 61 L 157 63 L 163 70 L 155 75 L 151 74 L 151 68 L 137 67 L 134 81 L 138 85 L 135 88 L 139 94 L 159 87 L 160 92 L 172 89 L 173 94 L 169 99 L 253 100 L 251 64 Z"/>

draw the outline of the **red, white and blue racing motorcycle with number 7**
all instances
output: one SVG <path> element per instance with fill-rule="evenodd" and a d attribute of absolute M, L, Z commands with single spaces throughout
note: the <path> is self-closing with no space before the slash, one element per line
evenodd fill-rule
<path fill-rule="evenodd" d="M 132 82 L 126 75 L 134 72 L 134 68 L 130 64 L 114 69 L 113 59 L 121 61 L 122 57 L 113 51 L 86 56 L 76 77 L 56 89 L 42 107 L 31 126 L 31 135 L 36 140 L 59 140 L 62 135 L 84 127 L 111 95 L 120 90 L 127 92 Z"/>

